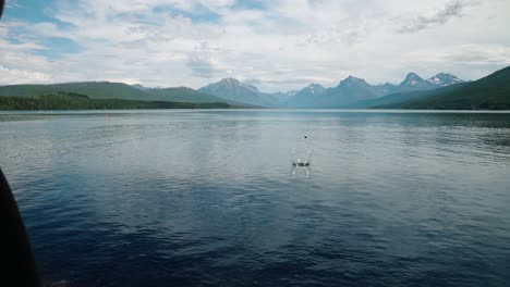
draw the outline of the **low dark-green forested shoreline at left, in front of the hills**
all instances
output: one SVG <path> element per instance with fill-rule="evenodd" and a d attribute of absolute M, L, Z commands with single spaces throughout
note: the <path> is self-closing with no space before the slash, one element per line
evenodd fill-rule
<path fill-rule="evenodd" d="M 58 92 L 37 97 L 0 97 L 0 110 L 130 110 L 130 109 L 227 109 L 222 102 L 169 102 L 120 99 L 90 99 L 87 96 Z"/>

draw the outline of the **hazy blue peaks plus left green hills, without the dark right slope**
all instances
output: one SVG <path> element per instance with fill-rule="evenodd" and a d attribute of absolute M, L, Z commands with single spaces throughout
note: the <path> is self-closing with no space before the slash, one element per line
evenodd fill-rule
<path fill-rule="evenodd" d="M 425 91 L 461 85 L 464 82 L 454 75 L 438 73 L 424 79 L 416 73 L 408 73 L 399 84 L 372 85 L 365 79 L 348 76 L 335 87 L 319 84 L 288 92 L 263 92 L 255 86 L 235 78 L 223 78 L 206 85 L 198 90 L 186 87 L 149 88 L 139 84 L 126 85 L 110 82 L 84 82 L 50 85 L 0 86 L 0 96 L 34 97 L 56 92 L 80 93 L 90 99 L 123 99 L 142 101 L 173 102 L 224 102 L 235 107 L 267 108 L 366 108 L 369 105 L 391 104 L 403 97 L 409 99 Z"/>

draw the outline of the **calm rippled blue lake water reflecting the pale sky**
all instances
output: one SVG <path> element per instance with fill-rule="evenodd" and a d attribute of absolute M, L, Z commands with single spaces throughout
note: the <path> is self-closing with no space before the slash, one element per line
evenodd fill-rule
<path fill-rule="evenodd" d="M 508 113 L 9 113 L 0 147 L 46 283 L 510 284 Z"/>

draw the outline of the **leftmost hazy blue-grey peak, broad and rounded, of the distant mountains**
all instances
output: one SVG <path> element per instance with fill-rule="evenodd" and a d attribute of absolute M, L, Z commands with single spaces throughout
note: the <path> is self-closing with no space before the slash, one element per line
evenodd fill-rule
<path fill-rule="evenodd" d="M 256 87 L 241 83 L 235 78 L 223 78 L 218 83 L 199 88 L 198 91 L 239 103 L 260 107 L 274 107 L 278 104 L 278 100 L 274 96 L 260 92 Z"/>

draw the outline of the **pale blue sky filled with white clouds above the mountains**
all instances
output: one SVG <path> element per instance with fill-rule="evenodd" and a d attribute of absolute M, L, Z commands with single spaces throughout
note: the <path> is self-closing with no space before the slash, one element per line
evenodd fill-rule
<path fill-rule="evenodd" d="M 473 80 L 510 65 L 509 15 L 510 0 L 7 0 L 0 85 Z"/>

